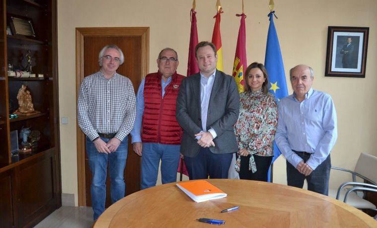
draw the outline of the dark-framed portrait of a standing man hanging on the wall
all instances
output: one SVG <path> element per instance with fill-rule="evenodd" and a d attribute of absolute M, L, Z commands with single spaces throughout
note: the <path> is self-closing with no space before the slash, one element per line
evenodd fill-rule
<path fill-rule="evenodd" d="M 365 78 L 367 27 L 329 26 L 325 76 Z"/>

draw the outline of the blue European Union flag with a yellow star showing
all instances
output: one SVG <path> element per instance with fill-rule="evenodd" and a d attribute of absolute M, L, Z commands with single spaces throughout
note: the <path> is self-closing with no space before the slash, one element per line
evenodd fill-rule
<path fill-rule="evenodd" d="M 270 12 L 268 16 L 270 18 L 270 26 L 268 28 L 267 34 L 267 46 L 266 55 L 264 59 L 264 66 L 266 67 L 268 72 L 268 79 L 270 81 L 270 91 L 275 95 L 276 101 L 279 102 L 281 98 L 288 95 L 287 82 L 285 80 L 283 58 L 281 57 L 279 40 L 277 38 L 277 33 L 273 20 L 273 17 L 275 16 L 275 11 Z M 272 163 L 277 159 L 277 157 L 279 157 L 280 154 L 281 152 L 277 147 L 276 143 L 274 142 L 274 157 L 272 159 Z M 268 173 L 268 182 L 271 182 L 270 172 Z"/>

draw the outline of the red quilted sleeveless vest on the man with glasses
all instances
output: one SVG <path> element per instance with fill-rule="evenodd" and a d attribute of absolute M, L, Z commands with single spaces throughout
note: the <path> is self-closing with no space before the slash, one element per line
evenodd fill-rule
<path fill-rule="evenodd" d="M 144 114 L 141 140 L 162 144 L 181 144 L 182 128 L 176 119 L 176 100 L 183 75 L 175 72 L 162 98 L 161 73 L 145 76 Z"/>

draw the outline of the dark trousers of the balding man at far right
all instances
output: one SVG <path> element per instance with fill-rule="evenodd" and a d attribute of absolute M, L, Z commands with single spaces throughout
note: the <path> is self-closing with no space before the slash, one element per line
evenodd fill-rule
<path fill-rule="evenodd" d="M 304 162 L 310 158 L 309 154 L 295 152 Z M 296 167 L 287 161 L 287 183 L 289 186 L 303 188 L 304 180 L 308 182 L 308 190 L 328 195 L 328 181 L 330 179 L 331 158 L 330 155 L 308 176 L 301 174 Z"/>

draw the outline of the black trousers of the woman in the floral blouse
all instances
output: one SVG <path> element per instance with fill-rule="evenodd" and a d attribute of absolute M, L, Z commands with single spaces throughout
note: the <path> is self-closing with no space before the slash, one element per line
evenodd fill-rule
<path fill-rule="evenodd" d="M 237 154 L 237 157 L 238 156 L 240 155 Z M 255 154 L 253 156 L 256 172 L 252 173 L 251 170 L 249 170 L 250 155 L 241 156 L 240 179 L 267 182 L 268 168 L 271 165 L 273 156 L 266 157 Z"/>

